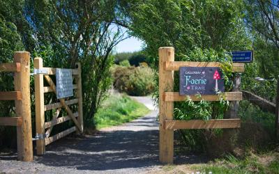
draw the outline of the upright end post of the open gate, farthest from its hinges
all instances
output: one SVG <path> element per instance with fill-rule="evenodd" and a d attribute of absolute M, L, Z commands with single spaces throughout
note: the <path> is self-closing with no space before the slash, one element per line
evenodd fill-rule
<path fill-rule="evenodd" d="M 78 98 L 78 117 L 77 121 L 80 123 L 81 131 L 83 132 L 83 111 L 82 111 L 82 65 L 80 63 L 75 63 L 75 68 L 78 70 L 78 75 L 76 77 L 77 83 L 77 98 Z"/>

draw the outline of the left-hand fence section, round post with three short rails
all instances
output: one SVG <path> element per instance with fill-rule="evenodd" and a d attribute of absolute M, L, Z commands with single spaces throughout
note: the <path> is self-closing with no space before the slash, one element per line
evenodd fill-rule
<path fill-rule="evenodd" d="M 15 52 L 13 63 L 0 63 L 0 72 L 15 73 L 15 91 L 0 92 L 0 100 L 15 100 L 15 117 L 0 117 L 0 125 L 17 127 L 17 159 L 33 161 L 29 52 Z"/>

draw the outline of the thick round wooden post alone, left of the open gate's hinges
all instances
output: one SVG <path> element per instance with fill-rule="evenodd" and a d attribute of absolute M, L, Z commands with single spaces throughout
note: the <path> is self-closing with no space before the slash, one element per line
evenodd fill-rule
<path fill-rule="evenodd" d="M 18 159 L 33 161 L 31 100 L 30 100 L 30 54 L 15 52 L 14 62 L 20 63 L 20 72 L 15 73 L 15 90 L 22 93 L 22 100 L 15 100 L 15 113 L 22 117 L 22 127 L 17 128 L 17 145 L 21 146 Z M 20 136 L 21 135 L 21 136 Z"/>

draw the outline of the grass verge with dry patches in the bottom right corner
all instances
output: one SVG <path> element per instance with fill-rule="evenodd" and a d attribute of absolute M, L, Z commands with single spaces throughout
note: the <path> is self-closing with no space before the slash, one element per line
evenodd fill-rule
<path fill-rule="evenodd" d="M 244 174 L 244 173 L 279 173 L 279 153 L 266 152 L 255 154 L 248 152 L 243 159 L 227 155 L 223 159 L 215 159 L 208 164 L 180 164 L 166 165 L 152 171 L 154 174 Z"/>

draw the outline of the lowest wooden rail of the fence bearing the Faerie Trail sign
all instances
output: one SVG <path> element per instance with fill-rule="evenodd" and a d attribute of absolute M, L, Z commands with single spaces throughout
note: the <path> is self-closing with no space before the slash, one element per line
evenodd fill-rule
<path fill-rule="evenodd" d="M 216 119 L 208 120 L 165 120 L 164 129 L 218 129 L 218 128 L 239 128 L 240 119 Z"/>

